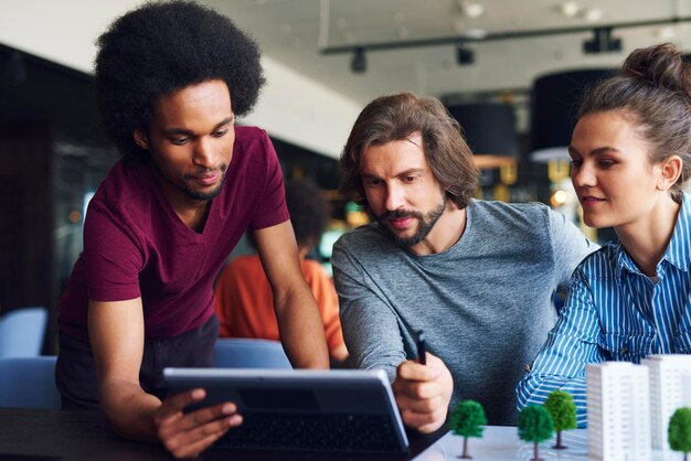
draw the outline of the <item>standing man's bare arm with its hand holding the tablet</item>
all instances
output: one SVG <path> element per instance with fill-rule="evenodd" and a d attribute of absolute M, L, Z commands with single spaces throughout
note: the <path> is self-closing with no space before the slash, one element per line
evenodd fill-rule
<path fill-rule="evenodd" d="M 178 458 L 198 455 L 242 422 L 232 403 L 183 414 L 205 397 L 193 389 L 161 403 L 139 384 L 143 356 L 141 299 L 89 301 L 88 331 L 98 376 L 100 406 L 114 430 L 136 440 L 160 440 Z"/>

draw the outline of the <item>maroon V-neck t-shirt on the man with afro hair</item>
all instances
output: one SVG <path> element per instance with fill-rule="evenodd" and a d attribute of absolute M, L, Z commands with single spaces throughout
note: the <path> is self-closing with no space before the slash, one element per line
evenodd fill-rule
<path fill-rule="evenodd" d="M 204 230 L 187 227 L 149 164 L 117 162 L 88 205 L 84 251 L 60 304 L 60 329 L 88 340 L 88 300 L 141 297 L 146 339 L 188 332 L 213 315 L 213 281 L 247 227 L 288 221 L 268 136 L 235 127 L 233 159 Z"/>

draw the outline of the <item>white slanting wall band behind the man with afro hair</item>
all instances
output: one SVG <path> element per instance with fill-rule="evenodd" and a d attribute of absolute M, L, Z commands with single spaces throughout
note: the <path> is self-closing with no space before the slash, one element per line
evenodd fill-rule
<path fill-rule="evenodd" d="M 0 43 L 92 72 L 95 41 L 141 0 L 0 0 Z M 338 158 L 361 107 L 264 56 L 267 85 L 245 124 Z"/>

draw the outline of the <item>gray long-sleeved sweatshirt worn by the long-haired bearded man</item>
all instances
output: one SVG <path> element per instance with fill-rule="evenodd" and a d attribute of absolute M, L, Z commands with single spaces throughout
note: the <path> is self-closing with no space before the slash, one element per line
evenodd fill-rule
<path fill-rule="evenodd" d="M 416 256 L 376 224 L 342 236 L 332 265 L 346 344 L 359 368 L 415 358 L 414 332 L 454 377 L 451 405 L 478 400 L 515 424 L 517 383 L 554 325 L 552 293 L 596 248 L 543 204 L 474 201 L 446 251 Z"/>

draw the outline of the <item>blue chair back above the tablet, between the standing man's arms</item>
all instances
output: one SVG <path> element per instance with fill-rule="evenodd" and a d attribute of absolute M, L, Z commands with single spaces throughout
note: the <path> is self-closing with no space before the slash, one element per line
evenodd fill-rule
<path fill-rule="evenodd" d="M 217 339 L 214 367 L 293 369 L 280 342 L 246 337 Z"/>

